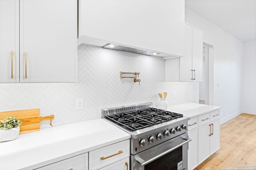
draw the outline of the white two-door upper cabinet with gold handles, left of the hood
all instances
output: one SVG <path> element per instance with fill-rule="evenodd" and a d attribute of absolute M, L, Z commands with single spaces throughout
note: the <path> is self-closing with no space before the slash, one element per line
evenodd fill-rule
<path fill-rule="evenodd" d="M 0 82 L 77 81 L 77 1 L 0 0 Z"/>

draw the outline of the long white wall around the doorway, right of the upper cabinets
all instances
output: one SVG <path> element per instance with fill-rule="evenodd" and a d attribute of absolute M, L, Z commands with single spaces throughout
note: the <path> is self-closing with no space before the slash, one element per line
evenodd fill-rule
<path fill-rule="evenodd" d="M 188 8 L 185 21 L 202 29 L 204 42 L 214 46 L 214 105 L 222 107 L 224 123 L 242 113 L 243 43 Z"/>

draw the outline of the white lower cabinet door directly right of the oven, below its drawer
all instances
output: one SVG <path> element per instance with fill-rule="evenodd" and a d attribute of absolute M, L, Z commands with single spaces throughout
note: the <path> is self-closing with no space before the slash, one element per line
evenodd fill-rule
<path fill-rule="evenodd" d="M 198 128 L 188 131 L 188 137 L 188 170 L 193 170 L 198 166 Z"/>

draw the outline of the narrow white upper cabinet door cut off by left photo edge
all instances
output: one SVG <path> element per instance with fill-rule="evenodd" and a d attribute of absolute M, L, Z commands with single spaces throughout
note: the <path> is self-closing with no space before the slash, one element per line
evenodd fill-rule
<path fill-rule="evenodd" d="M 19 81 L 19 0 L 0 0 L 0 82 Z"/>

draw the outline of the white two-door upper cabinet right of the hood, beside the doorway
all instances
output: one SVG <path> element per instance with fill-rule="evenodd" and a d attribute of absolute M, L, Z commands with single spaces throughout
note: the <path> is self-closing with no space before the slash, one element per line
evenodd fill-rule
<path fill-rule="evenodd" d="M 203 31 L 185 23 L 185 57 L 180 58 L 180 81 L 203 80 Z"/>

